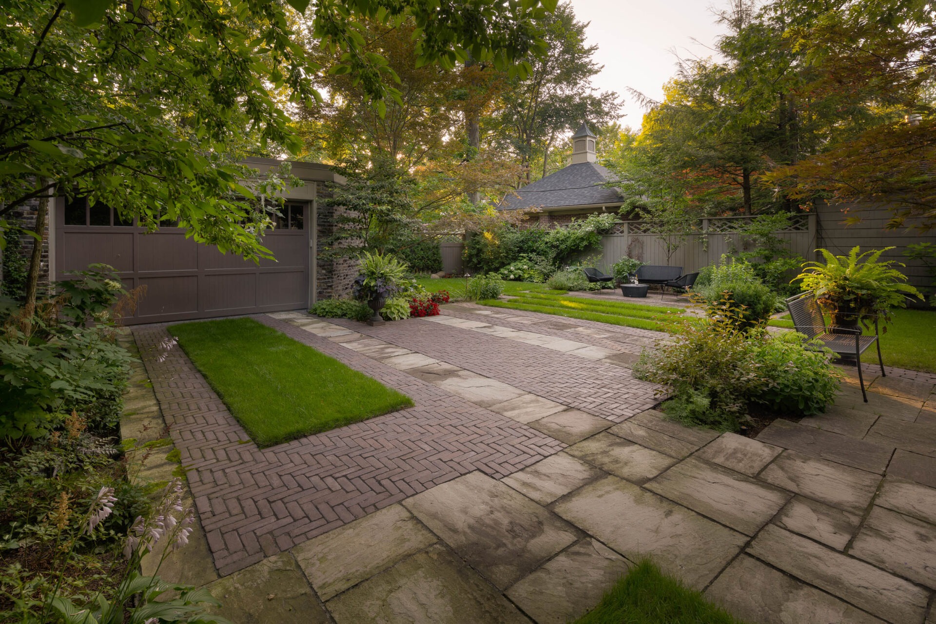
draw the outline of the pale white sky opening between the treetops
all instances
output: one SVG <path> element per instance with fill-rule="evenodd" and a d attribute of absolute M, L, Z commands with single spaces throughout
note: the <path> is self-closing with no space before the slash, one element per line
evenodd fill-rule
<path fill-rule="evenodd" d="M 724 28 L 710 7 L 726 5 L 725 0 L 572 0 L 578 21 L 591 22 L 588 42 L 597 44 L 594 58 L 605 65 L 592 83 L 623 96 L 623 125 L 639 128 L 643 117 L 627 87 L 659 99 L 675 71 L 674 51 L 683 58 L 712 55 L 705 46 Z"/>

